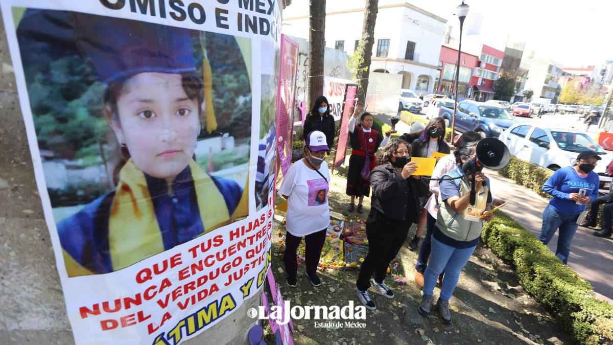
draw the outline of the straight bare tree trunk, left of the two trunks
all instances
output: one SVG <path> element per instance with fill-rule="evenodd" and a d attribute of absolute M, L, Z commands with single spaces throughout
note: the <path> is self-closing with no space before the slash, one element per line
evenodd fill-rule
<path fill-rule="evenodd" d="M 326 0 L 311 0 L 308 47 L 307 109 L 324 93 L 324 50 L 326 49 Z M 305 133 L 307 134 L 307 133 Z"/>

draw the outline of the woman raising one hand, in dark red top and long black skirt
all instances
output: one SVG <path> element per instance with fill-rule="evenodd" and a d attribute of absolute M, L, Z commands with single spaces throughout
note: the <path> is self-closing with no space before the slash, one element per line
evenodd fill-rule
<path fill-rule="evenodd" d="M 351 204 L 348 211 L 356 210 L 356 196 L 358 198 L 357 212 L 364 212 L 364 196 L 370 195 L 370 171 L 376 166 L 375 152 L 379 147 L 384 147 L 389 141 L 390 135 L 396 131 L 387 131 L 385 138 L 381 133 L 374 130 L 373 115 L 363 112 L 361 106 L 356 106 L 353 116 L 349 118 L 347 129 L 351 142 L 351 157 L 349 158 L 349 171 L 347 172 L 347 195 L 351 196 Z M 356 124 L 360 115 L 360 123 Z M 368 160 L 367 160 L 368 158 Z M 367 175 L 368 178 L 365 178 Z"/>

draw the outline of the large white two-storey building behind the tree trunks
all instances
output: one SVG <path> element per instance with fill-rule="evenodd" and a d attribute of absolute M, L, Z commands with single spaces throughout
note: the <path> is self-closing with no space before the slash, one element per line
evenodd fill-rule
<path fill-rule="evenodd" d="M 326 47 L 352 55 L 362 37 L 364 0 L 328 1 Z M 402 88 L 432 93 L 446 20 L 406 2 L 379 1 L 371 72 L 402 74 Z M 308 1 L 283 11 L 284 34 L 308 39 Z"/>

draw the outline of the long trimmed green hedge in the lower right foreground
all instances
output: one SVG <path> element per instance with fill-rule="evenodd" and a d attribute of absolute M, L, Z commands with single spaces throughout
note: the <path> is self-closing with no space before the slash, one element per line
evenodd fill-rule
<path fill-rule="evenodd" d="M 510 260 L 524 289 L 549 308 L 579 344 L 613 343 L 613 306 L 593 295 L 541 241 L 508 215 L 496 211 L 481 239 L 499 257 Z"/>

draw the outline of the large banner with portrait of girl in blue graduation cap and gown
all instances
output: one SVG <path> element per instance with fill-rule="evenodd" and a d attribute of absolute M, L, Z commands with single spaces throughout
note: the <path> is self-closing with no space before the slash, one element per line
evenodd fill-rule
<path fill-rule="evenodd" d="M 178 344 L 259 298 L 279 5 L 1 6 L 75 343 Z"/>

